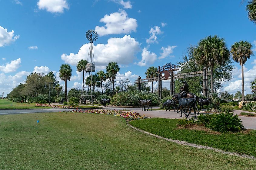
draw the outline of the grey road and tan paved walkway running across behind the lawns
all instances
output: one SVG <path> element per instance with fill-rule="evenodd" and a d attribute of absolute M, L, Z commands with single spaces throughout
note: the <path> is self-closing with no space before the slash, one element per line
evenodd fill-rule
<path fill-rule="evenodd" d="M 136 111 L 141 115 L 144 114 L 147 117 L 163 117 L 169 119 L 180 119 L 180 113 L 176 113 L 172 111 L 141 111 L 141 108 L 132 107 L 104 107 L 108 109 L 117 109 L 117 110 L 130 110 Z M 62 111 L 72 111 L 73 109 L 0 109 L 0 115 L 4 114 L 22 114 L 22 113 L 49 113 L 49 112 L 62 112 Z M 82 109 L 86 110 L 86 109 Z M 241 110 L 234 110 L 234 114 L 240 114 L 241 112 L 248 112 L 248 111 L 241 111 Z M 255 113 L 254 113 L 255 114 Z M 183 115 L 184 116 L 184 115 Z M 194 117 L 194 115 L 190 115 L 189 117 Z M 254 129 L 256 130 L 256 117 L 245 117 L 239 116 L 242 120 L 242 123 L 246 129 Z"/>

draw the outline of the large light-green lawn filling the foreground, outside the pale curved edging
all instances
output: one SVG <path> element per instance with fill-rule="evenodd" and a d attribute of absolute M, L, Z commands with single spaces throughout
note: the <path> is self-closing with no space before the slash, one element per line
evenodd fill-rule
<path fill-rule="evenodd" d="M 255 160 L 183 146 L 138 132 L 120 117 L 65 112 L 1 115 L 0 160 L 1 169 L 256 167 Z"/>

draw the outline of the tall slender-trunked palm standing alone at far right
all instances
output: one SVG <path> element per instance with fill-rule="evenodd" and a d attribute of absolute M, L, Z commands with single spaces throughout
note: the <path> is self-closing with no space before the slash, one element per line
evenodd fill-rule
<path fill-rule="evenodd" d="M 251 48 L 252 45 L 248 41 L 239 41 L 231 46 L 230 51 L 234 61 L 239 63 L 242 69 L 242 101 L 244 101 L 244 64 L 253 55 Z"/>

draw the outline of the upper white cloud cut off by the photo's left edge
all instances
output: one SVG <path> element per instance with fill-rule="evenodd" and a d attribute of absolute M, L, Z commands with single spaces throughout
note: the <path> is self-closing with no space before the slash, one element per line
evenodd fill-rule
<path fill-rule="evenodd" d="M 14 30 L 8 32 L 6 28 L 0 26 L 0 47 L 10 44 L 19 37 L 19 35 L 14 36 Z"/>

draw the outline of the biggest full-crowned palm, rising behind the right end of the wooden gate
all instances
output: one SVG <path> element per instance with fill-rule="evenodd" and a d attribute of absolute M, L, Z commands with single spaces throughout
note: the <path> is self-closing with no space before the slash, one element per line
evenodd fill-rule
<path fill-rule="evenodd" d="M 224 38 L 208 36 L 198 42 L 194 56 L 199 65 L 211 68 L 211 93 L 213 93 L 213 68 L 224 64 L 230 57 Z"/>

